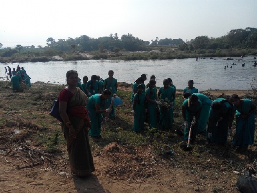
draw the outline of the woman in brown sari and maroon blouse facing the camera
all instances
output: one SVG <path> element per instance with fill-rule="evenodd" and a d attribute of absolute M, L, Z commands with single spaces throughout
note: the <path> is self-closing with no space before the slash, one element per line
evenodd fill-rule
<path fill-rule="evenodd" d="M 66 78 L 68 87 L 59 94 L 59 113 L 63 120 L 61 127 L 67 141 L 71 171 L 75 176 L 89 176 L 95 167 L 88 140 L 90 120 L 85 108 L 88 98 L 77 88 L 77 71 L 69 70 Z"/>

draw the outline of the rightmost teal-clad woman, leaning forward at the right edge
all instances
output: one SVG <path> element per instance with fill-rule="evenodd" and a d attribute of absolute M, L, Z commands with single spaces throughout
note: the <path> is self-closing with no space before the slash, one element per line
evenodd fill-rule
<path fill-rule="evenodd" d="M 237 94 L 230 96 L 230 102 L 236 108 L 236 133 L 233 138 L 233 145 L 239 146 L 239 151 L 244 151 L 248 145 L 254 143 L 254 111 L 256 106 L 249 99 L 240 100 Z"/>

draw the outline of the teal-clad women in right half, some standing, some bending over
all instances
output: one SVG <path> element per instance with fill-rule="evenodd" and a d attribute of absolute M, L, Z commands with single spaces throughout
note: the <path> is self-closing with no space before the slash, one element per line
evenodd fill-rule
<path fill-rule="evenodd" d="M 163 87 L 158 94 L 155 87 L 155 76 L 147 84 L 144 92 L 144 75 L 133 84 L 131 96 L 134 113 L 133 131 L 144 130 L 144 122 L 147 120 L 149 127 L 169 129 L 172 127 L 173 110 L 176 87 L 171 79 L 164 79 Z M 248 145 L 254 143 L 256 106 L 249 99 L 241 99 L 238 95 L 231 95 L 230 100 L 217 98 L 210 100 L 206 95 L 198 93 L 194 87 L 194 81 L 188 81 L 188 87 L 183 90 L 182 116 L 184 119 L 184 140 L 187 142 L 191 129 L 190 140 L 194 144 L 197 134 L 206 134 L 210 143 L 226 143 L 228 134 L 231 134 L 234 115 L 236 114 L 236 132 L 233 137 L 233 145 L 238 146 L 239 151 L 244 151 Z M 160 105 L 160 106 L 158 106 Z M 160 118 L 158 120 L 158 111 Z M 145 116 L 148 118 L 145 119 Z M 208 123 L 208 124 L 207 124 Z"/>

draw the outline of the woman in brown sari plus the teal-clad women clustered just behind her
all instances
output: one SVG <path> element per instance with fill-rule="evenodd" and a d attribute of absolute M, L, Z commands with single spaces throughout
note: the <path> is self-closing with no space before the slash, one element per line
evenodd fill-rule
<path fill-rule="evenodd" d="M 108 75 L 104 82 L 97 80 L 96 75 L 92 75 L 90 81 L 84 76 L 81 84 L 77 71 L 69 70 L 66 73 L 68 86 L 59 94 L 61 127 L 75 176 L 89 176 L 95 170 L 88 136 L 101 138 L 103 114 L 107 119 L 115 116 L 111 98 L 115 97 L 118 84 L 112 70 Z"/>

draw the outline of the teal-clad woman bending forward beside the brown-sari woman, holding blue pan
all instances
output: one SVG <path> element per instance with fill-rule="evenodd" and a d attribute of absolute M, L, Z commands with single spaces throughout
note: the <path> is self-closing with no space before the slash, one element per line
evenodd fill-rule
<path fill-rule="evenodd" d="M 87 109 L 90 112 L 91 129 L 89 130 L 89 135 L 91 137 L 101 138 L 102 114 L 110 111 L 107 108 L 107 99 L 110 95 L 111 91 L 105 89 L 102 94 L 95 94 L 89 97 Z"/>

